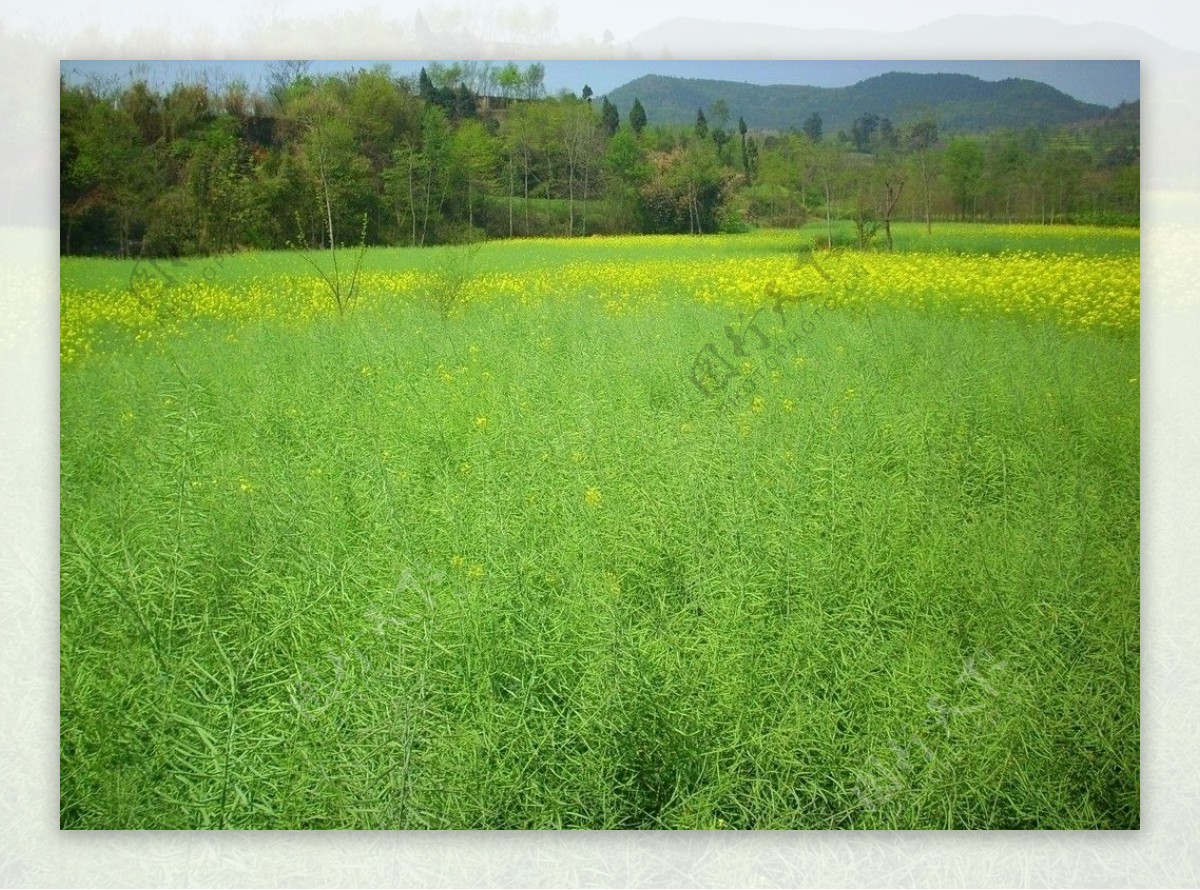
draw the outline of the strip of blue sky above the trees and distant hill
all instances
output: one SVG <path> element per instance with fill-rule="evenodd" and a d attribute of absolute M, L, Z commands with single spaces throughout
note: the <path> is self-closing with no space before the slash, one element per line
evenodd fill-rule
<path fill-rule="evenodd" d="M 373 61 L 316 61 L 313 71 L 332 73 L 354 67 L 370 67 Z M 422 61 L 390 61 L 397 74 L 415 74 Z M 524 65 L 526 62 L 518 61 Z M 676 77 L 737 80 L 757 84 L 803 84 L 810 86 L 848 86 L 886 71 L 954 72 L 973 74 L 985 80 L 1025 77 L 1043 80 L 1087 102 L 1115 106 L 1140 96 L 1136 61 L 544 61 L 546 89 L 578 92 L 584 84 L 598 96 L 614 90 L 647 73 Z M 266 83 L 268 61 L 64 61 L 62 72 L 77 82 L 90 74 L 126 80 L 144 77 L 156 85 L 179 79 L 194 79 L 204 72 L 216 72 L 227 80 L 240 78 L 251 88 Z"/>

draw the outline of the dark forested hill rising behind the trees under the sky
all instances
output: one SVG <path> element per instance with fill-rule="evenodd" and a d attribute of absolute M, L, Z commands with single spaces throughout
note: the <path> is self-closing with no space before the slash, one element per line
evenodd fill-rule
<path fill-rule="evenodd" d="M 648 74 L 608 94 L 622 120 L 628 118 L 635 98 L 641 100 L 652 126 L 692 124 L 697 108 L 703 108 L 707 115 L 713 102 L 722 98 L 734 126 L 740 115 L 754 130 L 799 130 L 816 112 L 827 134 L 839 130 L 848 133 L 854 120 L 866 113 L 898 125 L 931 114 L 942 132 L 952 134 L 1080 124 L 1103 118 L 1110 110 L 1080 102 L 1037 80 L 900 72 L 838 88 L 762 86 Z"/>

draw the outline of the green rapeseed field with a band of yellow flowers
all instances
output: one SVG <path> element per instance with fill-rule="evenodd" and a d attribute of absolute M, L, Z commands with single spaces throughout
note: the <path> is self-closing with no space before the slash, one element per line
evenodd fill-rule
<path fill-rule="evenodd" d="M 822 231 L 65 258 L 61 826 L 1138 828 L 1136 231 Z"/>

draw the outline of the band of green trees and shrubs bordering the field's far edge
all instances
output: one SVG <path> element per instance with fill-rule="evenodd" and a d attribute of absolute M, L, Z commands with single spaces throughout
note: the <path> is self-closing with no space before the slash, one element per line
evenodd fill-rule
<path fill-rule="evenodd" d="M 713 233 L 898 218 L 1135 223 L 1136 103 L 1091 126 L 947 136 L 864 113 L 850 133 L 761 132 L 718 100 L 695 126 L 622 115 L 545 70 L 379 65 L 268 85 L 60 83 L 65 254 L 188 255 L 330 243 Z M 624 119 L 623 119 L 624 118 Z"/>

